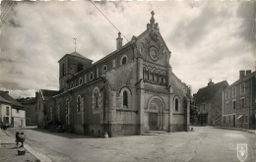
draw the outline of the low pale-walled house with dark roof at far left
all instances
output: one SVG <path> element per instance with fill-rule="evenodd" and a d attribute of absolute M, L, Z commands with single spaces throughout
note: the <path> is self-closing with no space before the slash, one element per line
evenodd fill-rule
<path fill-rule="evenodd" d="M 26 126 L 26 112 L 23 105 L 9 95 L 8 91 L 0 90 L 0 122 L 10 127 Z"/>

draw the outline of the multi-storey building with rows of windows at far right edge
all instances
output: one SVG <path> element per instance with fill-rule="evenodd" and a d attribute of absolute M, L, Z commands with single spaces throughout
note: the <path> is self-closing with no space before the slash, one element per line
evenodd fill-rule
<path fill-rule="evenodd" d="M 224 88 L 223 126 L 256 129 L 256 71 L 240 71 L 239 80 Z"/>

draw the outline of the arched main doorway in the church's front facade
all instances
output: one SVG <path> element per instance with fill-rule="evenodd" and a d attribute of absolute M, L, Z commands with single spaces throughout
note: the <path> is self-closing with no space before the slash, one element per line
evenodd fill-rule
<path fill-rule="evenodd" d="M 163 110 L 164 103 L 162 99 L 159 96 L 153 96 L 148 103 L 150 131 L 163 130 Z"/>

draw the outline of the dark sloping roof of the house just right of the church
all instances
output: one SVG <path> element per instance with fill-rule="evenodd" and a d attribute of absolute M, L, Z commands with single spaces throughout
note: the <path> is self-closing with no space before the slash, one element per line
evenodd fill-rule
<path fill-rule="evenodd" d="M 227 85 L 228 85 L 227 81 L 221 81 L 213 85 L 202 87 L 197 91 L 194 99 L 197 104 L 209 102 L 214 98 L 215 94 L 219 90 L 224 89 L 224 87 L 226 87 Z"/>

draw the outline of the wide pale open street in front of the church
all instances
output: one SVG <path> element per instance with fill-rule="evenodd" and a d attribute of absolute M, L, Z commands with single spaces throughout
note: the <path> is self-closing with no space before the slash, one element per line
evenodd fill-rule
<path fill-rule="evenodd" d="M 14 134 L 17 130 L 10 129 Z M 27 143 L 52 161 L 218 161 L 238 162 L 236 144 L 248 144 L 247 162 L 255 159 L 255 135 L 196 127 L 195 132 L 95 138 L 23 130 Z"/>

